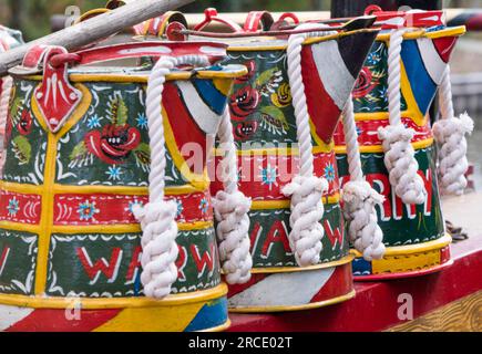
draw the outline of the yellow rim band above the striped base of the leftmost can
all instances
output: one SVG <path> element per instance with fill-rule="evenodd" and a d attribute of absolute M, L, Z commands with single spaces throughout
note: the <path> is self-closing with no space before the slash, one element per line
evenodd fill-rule
<path fill-rule="evenodd" d="M 198 303 L 219 299 L 227 294 L 227 285 L 222 283 L 215 288 L 195 292 L 171 294 L 163 300 L 154 300 L 144 296 L 137 298 L 60 298 L 44 295 L 18 295 L 0 293 L 0 303 L 12 306 L 32 309 L 66 309 L 72 302 L 80 303 L 84 310 L 103 309 L 142 309 L 164 306 L 180 306 L 182 304 Z"/>

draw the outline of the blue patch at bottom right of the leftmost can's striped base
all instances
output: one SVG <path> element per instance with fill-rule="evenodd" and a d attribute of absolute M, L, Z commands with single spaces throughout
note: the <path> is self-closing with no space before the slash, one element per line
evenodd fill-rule
<path fill-rule="evenodd" d="M 214 329 L 227 321 L 227 298 L 223 296 L 206 303 L 191 321 L 185 332 Z"/>

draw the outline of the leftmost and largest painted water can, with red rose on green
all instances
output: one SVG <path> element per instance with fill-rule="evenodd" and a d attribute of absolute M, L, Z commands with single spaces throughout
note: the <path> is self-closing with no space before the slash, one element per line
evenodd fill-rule
<path fill-rule="evenodd" d="M 212 65 L 173 69 L 162 95 L 166 198 L 177 204 L 177 280 L 144 295 L 141 227 L 148 199 L 150 66 L 168 55 Z M 215 64 L 211 42 L 121 43 L 68 53 L 35 46 L 11 71 L 7 160 L 0 181 L 0 330 L 216 331 L 228 326 L 209 183 L 182 147 L 207 137 L 242 65 Z M 132 59 L 132 66 L 98 62 Z M 88 65 L 89 64 L 89 65 Z M 158 100 L 161 104 L 161 98 Z"/>

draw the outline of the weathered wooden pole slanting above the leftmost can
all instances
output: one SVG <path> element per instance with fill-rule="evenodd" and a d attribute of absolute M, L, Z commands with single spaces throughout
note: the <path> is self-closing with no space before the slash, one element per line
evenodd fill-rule
<path fill-rule="evenodd" d="M 121 32 L 127 27 L 155 18 L 165 11 L 177 9 L 193 1 L 194 0 L 136 0 L 129 2 L 119 9 L 102 13 L 84 22 L 0 54 L 0 76 L 6 75 L 9 69 L 20 64 L 32 45 L 62 45 L 70 51 L 76 50 Z"/>

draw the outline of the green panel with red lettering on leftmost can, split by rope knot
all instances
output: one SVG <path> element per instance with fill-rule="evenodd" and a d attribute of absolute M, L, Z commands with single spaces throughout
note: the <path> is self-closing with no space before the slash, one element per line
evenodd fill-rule
<path fill-rule="evenodd" d="M 173 293 L 221 282 L 213 228 L 180 231 L 178 279 Z M 142 295 L 141 235 L 53 235 L 47 293 L 62 296 Z"/>

